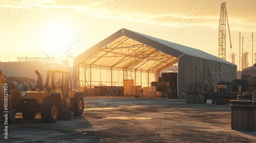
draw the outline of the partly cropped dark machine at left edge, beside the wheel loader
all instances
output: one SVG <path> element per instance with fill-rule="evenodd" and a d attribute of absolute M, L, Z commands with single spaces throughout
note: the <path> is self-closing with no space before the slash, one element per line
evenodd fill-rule
<path fill-rule="evenodd" d="M 12 96 L 6 76 L 0 70 L 0 121 L 4 125 L 14 123 L 15 109 L 12 108 Z"/>

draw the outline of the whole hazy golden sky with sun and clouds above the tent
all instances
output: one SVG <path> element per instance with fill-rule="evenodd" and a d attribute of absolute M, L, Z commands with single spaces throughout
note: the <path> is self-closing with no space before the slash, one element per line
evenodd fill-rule
<path fill-rule="evenodd" d="M 218 57 L 223 2 L 232 42 L 230 49 L 226 31 L 226 60 L 231 62 L 231 53 L 236 54 L 239 70 L 243 47 L 251 66 L 255 63 L 254 0 L 1 0 L 0 61 L 48 55 L 61 62 L 67 59 L 67 51 L 75 57 L 122 28 Z"/>

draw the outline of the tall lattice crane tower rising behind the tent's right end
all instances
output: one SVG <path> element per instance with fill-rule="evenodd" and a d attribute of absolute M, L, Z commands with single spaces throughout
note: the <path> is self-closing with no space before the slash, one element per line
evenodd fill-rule
<path fill-rule="evenodd" d="M 226 2 L 221 4 L 221 16 L 219 23 L 219 58 L 226 60 L 226 19 L 227 19 L 227 10 Z M 228 34 L 230 40 L 230 48 L 232 48 L 229 24 L 227 19 Z"/>

